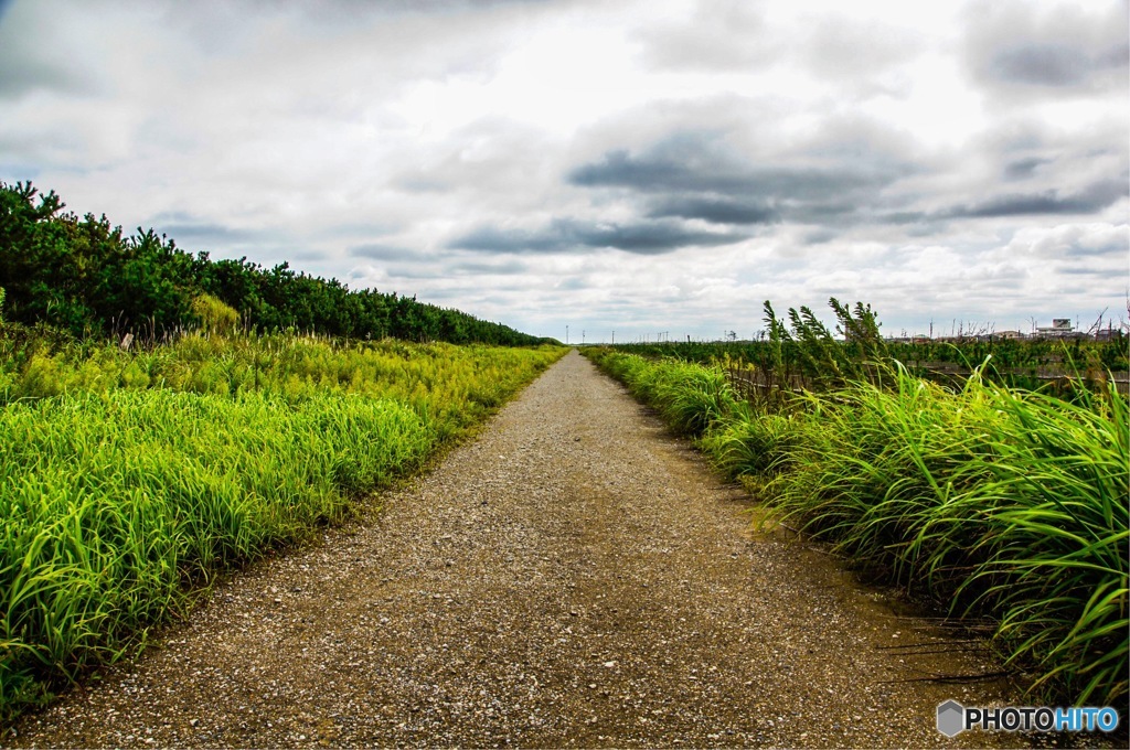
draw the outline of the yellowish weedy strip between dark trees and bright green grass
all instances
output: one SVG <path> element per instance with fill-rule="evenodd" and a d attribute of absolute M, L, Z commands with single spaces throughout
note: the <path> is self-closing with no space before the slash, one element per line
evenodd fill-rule
<path fill-rule="evenodd" d="M 442 437 L 473 425 L 564 349 L 337 341 L 296 335 L 189 335 L 148 351 L 0 331 L 0 404 L 114 389 L 169 389 L 296 401 L 376 395 L 435 418 Z"/>

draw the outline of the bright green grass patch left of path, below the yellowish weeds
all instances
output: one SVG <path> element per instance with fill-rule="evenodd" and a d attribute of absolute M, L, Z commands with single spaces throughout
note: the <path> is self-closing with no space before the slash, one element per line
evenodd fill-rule
<path fill-rule="evenodd" d="M 113 657 L 181 588 L 339 518 L 434 442 L 392 401 L 168 391 L 0 412 L 0 686 Z"/>

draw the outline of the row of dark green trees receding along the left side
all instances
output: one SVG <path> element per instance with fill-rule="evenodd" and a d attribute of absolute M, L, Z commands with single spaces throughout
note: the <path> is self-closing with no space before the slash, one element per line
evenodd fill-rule
<path fill-rule="evenodd" d="M 259 331 L 295 329 L 334 337 L 529 346 L 544 340 L 467 313 L 337 279 L 211 260 L 153 229 L 123 236 L 105 215 L 63 211 L 54 191 L 0 182 L 3 320 L 46 323 L 77 337 L 132 332 L 162 339 L 201 325 L 215 300 Z"/>

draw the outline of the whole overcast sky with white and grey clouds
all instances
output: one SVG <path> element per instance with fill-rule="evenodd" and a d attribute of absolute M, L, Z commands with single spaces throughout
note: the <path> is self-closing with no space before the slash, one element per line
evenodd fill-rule
<path fill-rule="evenodd" d="M 571 341 L 1130 295 L 1127 0 L 0 0 L 0 181 Z"/>

